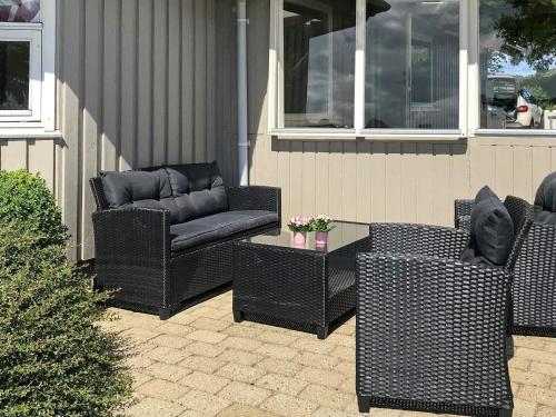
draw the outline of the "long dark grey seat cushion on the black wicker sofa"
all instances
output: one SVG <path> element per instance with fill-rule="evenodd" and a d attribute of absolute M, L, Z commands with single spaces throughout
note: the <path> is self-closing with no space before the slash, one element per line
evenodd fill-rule
<path fill-rule="evenodd" d="M 278 221 L 276 212 L 225 211 L 170 226 L 171 250 L 178 252 Z"/>

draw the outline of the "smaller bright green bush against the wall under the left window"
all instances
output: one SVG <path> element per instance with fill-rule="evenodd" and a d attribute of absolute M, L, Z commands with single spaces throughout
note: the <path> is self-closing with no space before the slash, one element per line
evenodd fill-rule
<path fill-rule="evenodd" d="M 42 247 L 66 244 L 61 211 L 38 175 L 24 170 L 0 171 L 0 219 L 26 224 Z"/>

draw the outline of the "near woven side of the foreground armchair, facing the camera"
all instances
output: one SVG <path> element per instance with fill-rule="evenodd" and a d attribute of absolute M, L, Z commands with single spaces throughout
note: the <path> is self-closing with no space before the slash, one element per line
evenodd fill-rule
<path fill-rule="evenodd" d="M 504 269 L 359 254 L 356 275 L 358 395 L 510 407 Z"/>

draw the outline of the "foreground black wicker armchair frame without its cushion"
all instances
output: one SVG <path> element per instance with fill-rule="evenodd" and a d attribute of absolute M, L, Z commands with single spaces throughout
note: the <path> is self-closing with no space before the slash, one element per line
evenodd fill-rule
<path fill-rule="evenodd" d="M 512 416 L 506 337 L 509 282 L 530 206 L 509 198 L 502 267 L 460 261 L 466 230 L 371 225 L 357 257 L 357 396 L 370 407 Z M 473 241 L 473 239 L 471 239 Z"/>

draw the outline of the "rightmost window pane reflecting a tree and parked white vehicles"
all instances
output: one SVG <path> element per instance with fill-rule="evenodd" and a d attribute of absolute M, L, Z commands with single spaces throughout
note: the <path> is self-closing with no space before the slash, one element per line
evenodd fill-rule
<path fill-rule="evenodd" d="M 556 129 L 556 3 L 480 0 L 480 128 Z"/>

